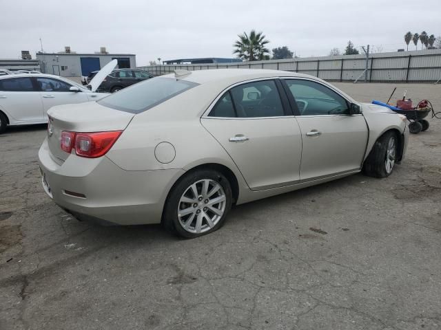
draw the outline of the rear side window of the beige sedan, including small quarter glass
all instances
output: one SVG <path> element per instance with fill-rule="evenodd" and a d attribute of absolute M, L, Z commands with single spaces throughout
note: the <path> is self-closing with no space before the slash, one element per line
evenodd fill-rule
<path fill-rule="evenodd" d="M 231 99 L 235 111 L 234 115 L 229 115 L 229 117 L 256 118 L 285 115 L 274 80 L 238 85 L 230 89 L 227 94 L 216 103 L 209 113 L 210 117 L 227 117 L 226 113 L 232 113 L 229 99 Z M 228 110 L 227 107 L 229 107 Z"/>

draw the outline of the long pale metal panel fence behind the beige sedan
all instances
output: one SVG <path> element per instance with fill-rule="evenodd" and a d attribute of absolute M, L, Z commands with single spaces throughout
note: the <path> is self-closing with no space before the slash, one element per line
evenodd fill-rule
<path fill-rule="evenodd" d="M 291 58 L 287 60 L 218 63 L 202 65 L 149 65 L 140 67 L 154 76 L 170 74 L 176 69 L 276 69 L 309 74 L 324 80 L 353 82 L 365 70 L 364 55 Z M 441 78 L 441 50 L 417 50 L 369 55 L 367 81 L 434 82 Z M 364 81 L 362 76 L 359 81 Z"/>

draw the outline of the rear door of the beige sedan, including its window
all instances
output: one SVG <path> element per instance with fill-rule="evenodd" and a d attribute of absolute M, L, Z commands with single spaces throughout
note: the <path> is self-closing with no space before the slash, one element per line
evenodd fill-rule
<path fill-rule="evenodd" d="M 232 157 L 249 188 L 263 190 L 300 178 L 300 129 L 288 111 L 276 81 L 260 80 L 227 91 L 201 122 Z"/>

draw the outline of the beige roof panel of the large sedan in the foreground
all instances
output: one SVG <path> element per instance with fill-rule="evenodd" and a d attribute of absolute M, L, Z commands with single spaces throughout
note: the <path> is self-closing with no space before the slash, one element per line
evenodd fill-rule
<path fill-rule="evenodd" d="M 297 74 L 295 72 L 268 70 L 268 69 L 209 69 L 190 71 L 185 76 L 178 77 L 178 79 L 192 81 L 193 83 L 203 84 L 213 80 L 249 80 L 257 78 L 271 78 L 271 77 L 308 77 L 306 74 Z M 167 74 L 164 77 L 176 78 L 174 74 Z"/>

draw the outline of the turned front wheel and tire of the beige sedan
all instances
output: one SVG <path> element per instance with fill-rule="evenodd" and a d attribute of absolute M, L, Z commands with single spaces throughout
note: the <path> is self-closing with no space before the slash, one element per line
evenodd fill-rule
<path fill-rule="evenodd" d="M 391 142 L 392 141 L 392 142 Z M 396 163 L 398 137 L 393 131 L 381 135 L 363 164 L 363 172 L 370 177 L 389 177 Z"/>

